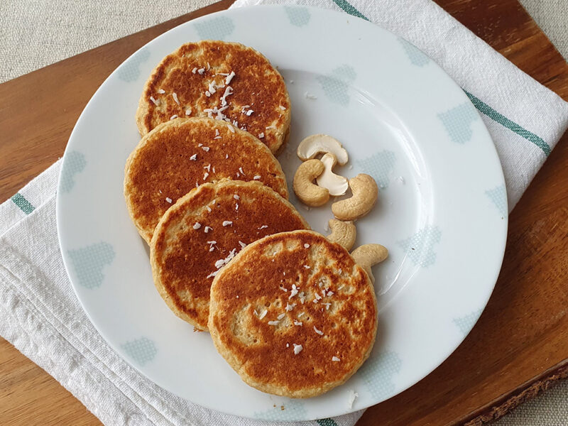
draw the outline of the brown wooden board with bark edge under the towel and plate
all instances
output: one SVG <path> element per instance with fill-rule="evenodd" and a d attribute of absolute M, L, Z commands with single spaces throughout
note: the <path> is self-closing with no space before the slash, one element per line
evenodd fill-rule
<path fill-rule="evenodd" d="M 516 0 L 437 0 L 568 99 L 568 64 Z M 0 84 L 0 201 L 63 153 L 84 105 L 127 56 L 200 11 Z M 33 94 L 33 96 L 30 96 Z M 510 215 L 503 269 L 471 334 L 439 368 L 359 426 L 481 425 L 568 376 L 568 133 Z M 0 342 L 0 425 L 100 425 L 45 371 Z"/>

